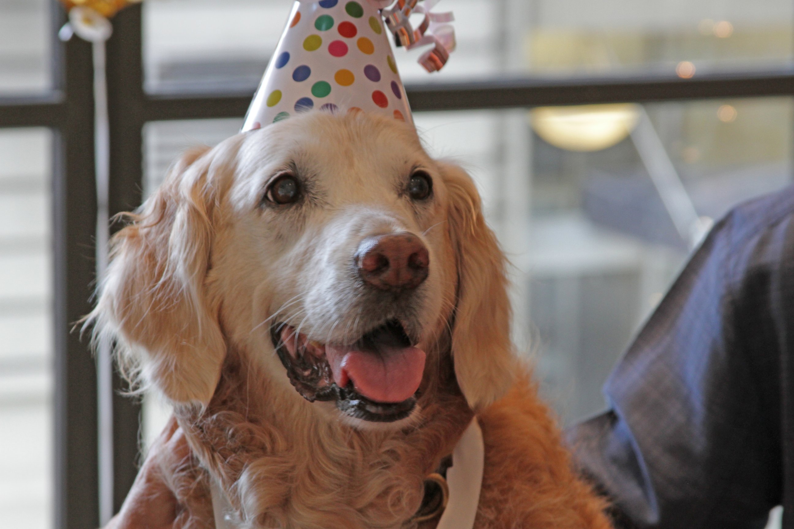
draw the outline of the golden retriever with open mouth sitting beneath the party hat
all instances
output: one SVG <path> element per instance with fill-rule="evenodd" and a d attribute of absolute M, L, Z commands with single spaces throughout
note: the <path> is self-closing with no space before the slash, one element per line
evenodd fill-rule
<path fill-rule="evenodd" d="M 176 526 L 214 527 L 216 483 L 237 527 L 436 527 L 426 477 L 476 416 L 475 527 L 611 527 L 515 356 L 505 266 L 405 123 L 310 112 L 184 155 L 90 316 L 187 438 Z"/>

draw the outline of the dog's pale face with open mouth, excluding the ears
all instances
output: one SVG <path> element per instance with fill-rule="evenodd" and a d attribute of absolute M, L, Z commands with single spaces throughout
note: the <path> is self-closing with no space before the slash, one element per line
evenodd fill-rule
<path fill-rule="evenodd" d="M 456 278 L 437 164 L 406 126 L 315 115 L 253 132 L 212 278 L 224 327 L 304 398 L 392 422 L 414 411 Z M 234 270 L 248 270 L 236 274 Z"/>

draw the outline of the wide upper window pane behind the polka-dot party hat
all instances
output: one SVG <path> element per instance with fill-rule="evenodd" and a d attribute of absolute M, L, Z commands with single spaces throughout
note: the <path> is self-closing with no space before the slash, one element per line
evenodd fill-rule
<path fill-rule="evenodd" d="M 290 10 L 282 0 L 148 0 L 144 4 L 148 89 L 209 82 L 256 86 Z M 447 0 L 457 52 L 427 75 L 422 51 L 395 53 L 403 78 L 478 79 L 499 72 L 535 75 L 662 72 L 790 63 L 789 0 Z"/>

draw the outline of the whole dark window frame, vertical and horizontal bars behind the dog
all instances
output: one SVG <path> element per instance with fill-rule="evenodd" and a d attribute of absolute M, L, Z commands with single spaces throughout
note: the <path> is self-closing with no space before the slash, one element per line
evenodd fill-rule
<path fill-rule="evenodd" d="M 49 94 L 0 97 L 0 128 L 54 131 L 52 228 L 54 255 L 55 526 L 87 529 L 99 523 L 96 366 L 87 339 L 72 332 L 91 309 L 93 241 L 94 102 L 91 44 L 57 40 L 66 21 L 52 0 L 52 73 Z M 114 18 L 107 43 L 110 93 L 110 213 L 141 203 L 143 128 L 148 121 L 242 117 L 252 90 L 202 92 L 195 87 L 147 94 L 143 86 L 141 6 Z M 611 75 L 407 86 L 414 111 L 530 108 L 609 102 L 665 102 L 708 98 L 794 95 L 794 64 L 765 71 L 675 75 Z M 115 379 L 121 388 L 121 381 Z M 114 395 L 114 504 L 118 509 L 137 473 L 139 405 Z"/>

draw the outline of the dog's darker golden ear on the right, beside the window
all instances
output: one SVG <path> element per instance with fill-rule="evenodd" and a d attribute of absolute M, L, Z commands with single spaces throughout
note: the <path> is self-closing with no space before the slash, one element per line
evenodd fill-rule
<path fill-rule="evenodd" d="M 468 404 L 477 410 L 507 393 L 515 378 L 506 261 L 485 224 L 472 178 L 452 164 L 440 167 L 449 193 L 449 235 L 457 259 L 455 375 Z"/>

